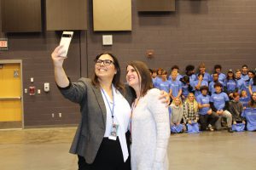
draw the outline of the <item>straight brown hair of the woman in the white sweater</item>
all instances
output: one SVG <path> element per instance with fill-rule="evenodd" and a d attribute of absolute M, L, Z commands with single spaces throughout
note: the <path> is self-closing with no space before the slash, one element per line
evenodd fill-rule
<path fill-rule="evenodd" d="M 128 65 L 131 65 L 137 72 L 137 75 L 141 82 L 140 94 L 141 97 L 143 97 L 147 94 L 149 89 L 153 88 L 153 82 L 148 71 L 148 66 L 142 61 L 131 61 L 131 63 L 129 63 Z M 126 69 L 128 65 L 126 66 Z"/>

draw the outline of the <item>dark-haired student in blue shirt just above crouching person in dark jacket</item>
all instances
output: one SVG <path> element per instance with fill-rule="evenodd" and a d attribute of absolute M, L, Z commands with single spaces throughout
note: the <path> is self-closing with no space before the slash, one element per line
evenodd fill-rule
<path fill-rule="evenodd" d="M 234 72 L 230 69 L 227 73 L 227 78 L 224 81 L 224 92 L 228 94 L 230 99 L 233 99 L 233 93 L 235 93 L 236 91 L 236 78 Z"/>

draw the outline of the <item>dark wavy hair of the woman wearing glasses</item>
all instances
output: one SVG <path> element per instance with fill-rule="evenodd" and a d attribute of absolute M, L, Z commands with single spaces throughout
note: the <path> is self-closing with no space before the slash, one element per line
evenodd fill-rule
<path fill-rule="evenodd" d="M 118 59 L 113 54 L 104 52 L 102 54 L 98 54 L 96 56 L 95 60 L 99 59 L 104 54 L 108 54 L 113 59 L 113 65 L 114 65 L 114 68 L 116 69 L 116 74 L 113 76 L 113 80 L 112 80 L 113 86 L 115 88 L 117 88 L 118 90 L 121 90 L 122 92 L 124 92 L 124 89 L 125 89 L 124 84 L 122 82 L 120 82 L 121 70 L 120 70 L 120 65 L 119 65 Z M 100 87 L 100 82 L 99 82 L 98 77 L 96 76 L 95 72 L 92 77 L 91 83 L 92 83 L 92 85 L 94 85 L 96 87 Z"/>

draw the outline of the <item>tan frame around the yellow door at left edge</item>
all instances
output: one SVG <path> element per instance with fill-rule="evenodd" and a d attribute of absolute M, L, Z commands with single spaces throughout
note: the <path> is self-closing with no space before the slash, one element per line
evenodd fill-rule
<path fill-rule="evenodd" d="M 23 100 L 23 69 L 22 59 L 0 59 L 0 65 L 3 64 L 20 64 L 20 89 L 21 89 L 21 128 L 24 128 L 24 100 Z"/>

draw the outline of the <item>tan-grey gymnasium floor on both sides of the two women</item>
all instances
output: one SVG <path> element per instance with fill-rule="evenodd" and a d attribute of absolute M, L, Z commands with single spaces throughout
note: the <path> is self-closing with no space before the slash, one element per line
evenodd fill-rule
<path fill-rule="evenodd" d="M 1 170 L 76 170 L 68 153 L 75 127 L 0 131 Z M 171 170 L 255 170 L 256 132 L 174 134 Z"/>

